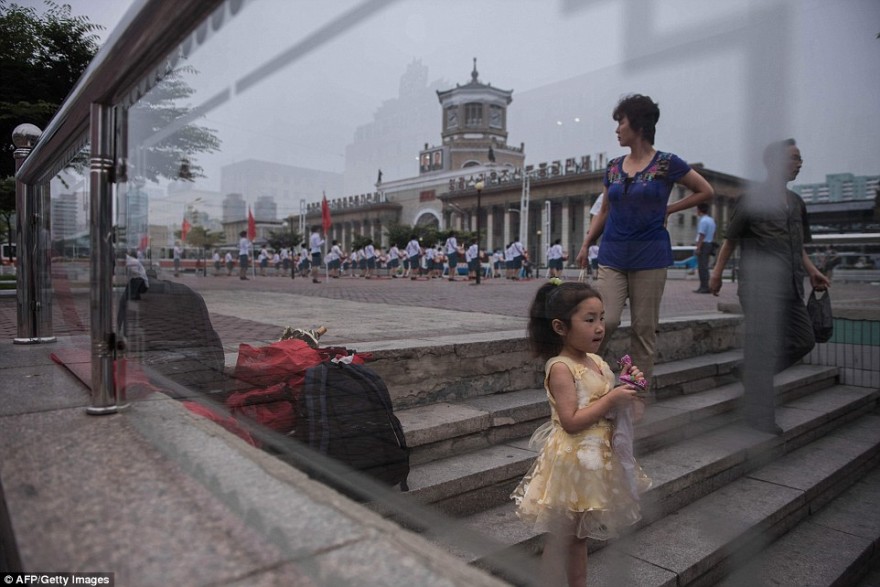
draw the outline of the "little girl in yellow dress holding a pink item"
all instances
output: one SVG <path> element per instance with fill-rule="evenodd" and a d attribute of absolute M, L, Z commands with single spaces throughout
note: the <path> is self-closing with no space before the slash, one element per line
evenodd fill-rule
<path fill-rule="evenodd" d="M 517 515 L 549 533 L 542 557 L 547 585 L 586 585 L 586 539 L 605 540 L 636 523 L 638 494 L 651 481 L 634 461 L 612 446 L 615 419 L 641 411 L 632 384 L 615 386 L 614 374 L 595 353 L 605 335 L 602 299 L 585 283 L 558 279 L 538 290 L 529 312 L 529 340 L 547 360 L 544 388 L 550 422 L 532 436 L 540 454 L 511 498 Z M 632 364 L 622 375 L 644 381 Z M 626 442 L 626 439 L 615 442 Z M 628 449 L 628 451 L 627 451 Z"/>

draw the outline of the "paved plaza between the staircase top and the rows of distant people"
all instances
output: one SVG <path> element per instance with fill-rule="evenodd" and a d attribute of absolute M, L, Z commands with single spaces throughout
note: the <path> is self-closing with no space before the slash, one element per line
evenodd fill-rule
<path fill-rule="evenodd" d="M 574 273 L 572 273 L 574 275 Z M 544 279 L 511 281 L 484 279 L 449 282 L 445 279 L 360 279 L 341 277 L 312 283 L 310 279 L 280 276 L 208 276 L 192 273 L 160 275 L 193 288 L 205 299 L 211 321 L 227 352 L 240 342 L 276 340 L 285 326 L 325 326 L 325 344 L 400 339 L 430 339 L 455 334 L 523 330 L 528 307 Z M 56 336 L 87 335 L 89 297 L 85 284 L 55 280 L 53 328 Z M 719 296 L 693 293 L 694 276 L 670 271 L 661 319 L 717 314 L 737 305 L 736 284 L 725 281 Z M 121 295 L 121 293 L 120 293 Z M 146 295 L 149 295 L 146 294 Z M 880 312 L 880 286 L 834 283 L 836 311 Z M 628 311 L 623 321 L 629 320 Z M 16 335 L 15 297 L 0 297 L 0 335 Z"/>

